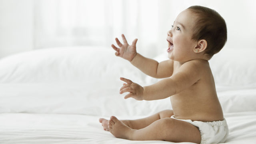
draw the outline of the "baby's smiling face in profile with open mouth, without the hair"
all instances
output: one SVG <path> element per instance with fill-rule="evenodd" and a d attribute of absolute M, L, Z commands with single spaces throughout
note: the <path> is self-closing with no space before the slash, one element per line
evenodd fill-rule
<path fill-rule="evenodd" d="M 173 28 L 167 32 L 168 58 L 178 62 L 193 59 L 195 54 L 193 48 L 197 46 L 197 42 L 191 39 L 193 16 L 190 10 L 182 11 L 174 21 Z"/>

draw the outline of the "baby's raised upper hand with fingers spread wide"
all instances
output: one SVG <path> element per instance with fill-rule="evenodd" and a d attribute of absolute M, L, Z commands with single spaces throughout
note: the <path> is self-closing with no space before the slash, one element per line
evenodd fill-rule
<path fill-rule="evenodd" d="M 120 47 L 117 48 L 112 44 L 112 48 L 116 51 L 116 56 L 120 56 L 121 58 L 124 58 L 126 60 L 132 61 L 132 59 L 136 56 L 136 43 L 137 43 L 137 38 L 132 42 L 132 45 L 129 45 L 126 41 L 126 38 L 124 37 L 124 34 L 122 34 L 122 39 L 124 44 L 122 44 L 118 38 L 116 38 L 116 44 Z"/>

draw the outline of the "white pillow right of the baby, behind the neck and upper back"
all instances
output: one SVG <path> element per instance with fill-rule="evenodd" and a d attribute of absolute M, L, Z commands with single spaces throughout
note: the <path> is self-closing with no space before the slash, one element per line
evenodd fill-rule
<path fill-rule="evenodd" d="M 223 48 L 209 61 L 216 85 L 256 84 L 256 48 Z"/>

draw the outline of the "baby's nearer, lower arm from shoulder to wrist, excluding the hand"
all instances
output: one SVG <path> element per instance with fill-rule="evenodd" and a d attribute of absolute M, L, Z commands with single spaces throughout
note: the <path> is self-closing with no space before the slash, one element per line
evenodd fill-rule
<path fill-rule="evenodd" d="M 159 100 L 168 98 L 198 82 L 201 78 L 202 68 L 196 63 L 193 61 L 186 62 L 170 78 L 166 78 L 150 86 L 144 86 L 143 99 Z"/>

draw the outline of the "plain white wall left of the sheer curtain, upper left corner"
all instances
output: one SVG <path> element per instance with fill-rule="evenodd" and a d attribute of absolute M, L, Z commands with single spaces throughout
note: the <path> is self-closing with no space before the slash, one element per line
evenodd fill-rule
<path fill-rule="evenodd" d="M 33 0 L 0 0 L 0 58 L 33 49 Z"/>

